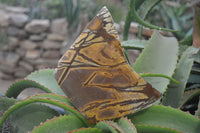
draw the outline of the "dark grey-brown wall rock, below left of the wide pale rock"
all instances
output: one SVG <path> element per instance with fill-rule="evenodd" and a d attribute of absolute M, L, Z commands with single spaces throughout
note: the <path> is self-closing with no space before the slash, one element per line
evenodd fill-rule
<path fill-rule="evenodd" d="M 8 27 L 6 29 L 6 33 L 8 36 L 18 37 L 19 39 L 24 39 L 27 37 L 27 33 L 24 30 L 16 27 Z"/>

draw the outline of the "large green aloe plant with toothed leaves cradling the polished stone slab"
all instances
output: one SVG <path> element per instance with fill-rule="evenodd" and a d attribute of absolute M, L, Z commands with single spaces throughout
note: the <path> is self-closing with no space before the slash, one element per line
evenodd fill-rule
<path fill-rule="evenodd" d="M 199 98 L 200 95 L 199 80 L 193 77 L 194 74 L 200 75 L 200 69 L 192 66 L 193 62 L 200 64 L 199 49 L 187 46 L 184 52 L 180 52 L 181 45 L 176 38 L 163 37 L 157 31 L 148 41 L 124 41 L 122 47 L 143 49 L 133 64 L 133 69 L 141 73 L 143 77 L 146 74 L 145 80 L 164 94 L 157 103 L 137 113 L 91 125 L 58 86 L 53 74 L 54 69 L 44 69 L 16 81 L 8 88 L 5 96 L 0 97 L 0 131 L 17 133 L 198 133 L 200 131 L 198 118 L 200 107 L 198 106 L 199 108 L 195 110 L 196 117 L 180 109 L 191 105 L 191 101 L 196 97 Z M 179 84 L 175 83 L 174 79 Z M 192 86 L 186 86 L 186 84 Z M 44 93 L 22 100 L 16 99 L 24 89 L 30 87 L 41 89 Z M 186 91 L 185 88 L 188 90 Z"/>

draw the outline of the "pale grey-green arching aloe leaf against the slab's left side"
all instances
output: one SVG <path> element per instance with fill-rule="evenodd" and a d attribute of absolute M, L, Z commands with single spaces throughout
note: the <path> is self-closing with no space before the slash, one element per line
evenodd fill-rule
<path fill-rule="evenodd" d="M 16 81 L 7 90 L 7 97 L 16 98 L 26 88 L 38 88 L 47 93 L 66 96 L 53 76 L 54 70 L 46 69 L 31 73 L 25 79 Z"/>

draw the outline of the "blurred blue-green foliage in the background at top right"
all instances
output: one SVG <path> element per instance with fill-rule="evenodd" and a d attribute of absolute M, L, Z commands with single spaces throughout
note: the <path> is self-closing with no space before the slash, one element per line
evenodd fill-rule
<path fill-rule="evenodd" d="M 165 16 L 165 25 L 179 31 L 174 33 L 178 39 L 192 34 L 193 14 L 187 13 L 191 8 L 186 4 L 170 7 L 162 3 L 158 10 L 162 16 Z"/>

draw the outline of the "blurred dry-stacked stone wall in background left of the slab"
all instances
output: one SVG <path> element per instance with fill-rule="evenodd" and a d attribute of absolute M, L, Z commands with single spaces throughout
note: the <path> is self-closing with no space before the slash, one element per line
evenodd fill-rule
<path fill-rule="evenodd" d="M 22 7 L 0 8 L 0 34 L 8 38 L 0 50 L 1 79 L 24 78 L 34 70 L 54 68 L 63 54 L 65 18 L 30 21 L 27 13 Z"/>

